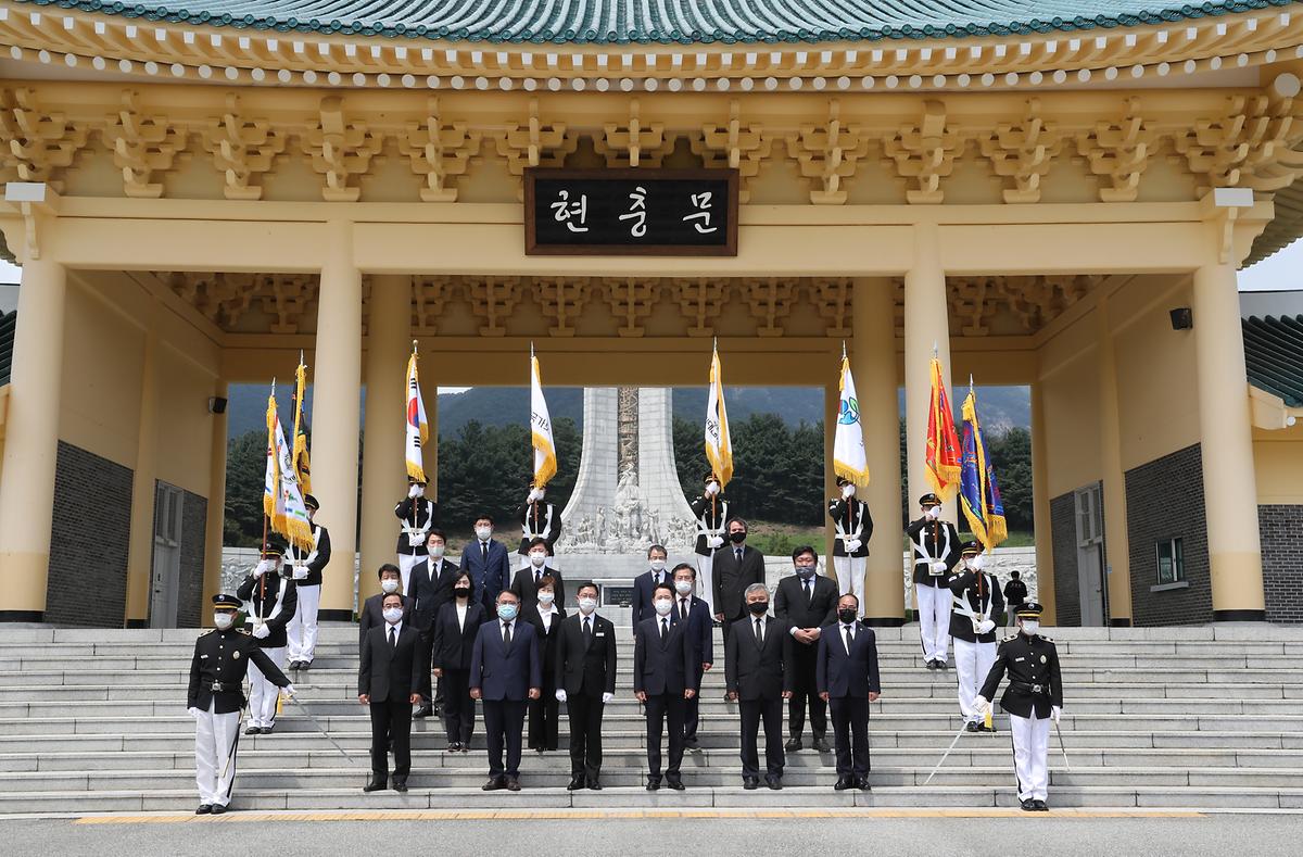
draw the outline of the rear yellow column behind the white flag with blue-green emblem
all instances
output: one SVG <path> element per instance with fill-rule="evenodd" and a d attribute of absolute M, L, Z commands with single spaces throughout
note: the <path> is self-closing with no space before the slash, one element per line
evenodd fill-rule
<path fill-rule="evenodd" d="M 873 516 L 864 576 L 864 619 L 870 625 L 904 623 L 900 560 L 900 423 L 896 404 L 895 313 L 890 280 L 856 280 L 851 298 L 855 348 L 851 372 L 860 397 L 860 425 L 869 486 L 860 499 Z"/>

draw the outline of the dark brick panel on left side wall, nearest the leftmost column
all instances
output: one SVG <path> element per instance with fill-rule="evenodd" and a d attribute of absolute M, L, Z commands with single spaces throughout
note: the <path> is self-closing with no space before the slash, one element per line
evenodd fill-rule
<path fill-rule="evenodd" d="M 132 469 L 59 442 L 46 621 L 120 628 L 126 612 Z"/>

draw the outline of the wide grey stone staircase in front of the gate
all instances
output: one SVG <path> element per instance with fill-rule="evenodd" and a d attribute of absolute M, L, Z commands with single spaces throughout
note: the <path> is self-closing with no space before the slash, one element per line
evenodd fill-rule
<path fill-rule="evenodd" d="M 620 632 L 627 634 L 625 630 Z M 1050 629 L 1063 663 L 1067 761 L 1050 737 L 1055 808 L 1303 808 L 1303 629 L 1218 625 Z M 194 722 L 185 688 L 194 630 L 0 630 L 0 813 L 193 810 Z M 718 643 L 718 641 L 717 641 Z M 919 659 L 917 626 L 878 632 L 882 698 L 872 705 L 872 792 L 834 792 L 831 754 L 787 755 L 780 792 L 741 788 L 736 706 L 723 671 L 702 688 L 700 753 L 685 792 L 646 792 L 645 733 L 622 636 L 607 707 L 602 792 L 567 792 L 562 749 L 528 752 L 520 793 L 480 791 L 481 724 L 469 754 L 446 753 L 442 723 L 413 727 L 412 791 L 364 794 L 370 727 L 357 703 L 356 626 L 327 625 L 296 682 L 332 746 L 293 706 L 270 736 L 242 736 L 233 808 L 989 808 L 1014 806 L 1007 719 L 997 735 L 960 728 L 954 672 Z M 831 740 L 831 736 L 829 736 Z M 761 750 L 764 752 L 764 750 Z"/>

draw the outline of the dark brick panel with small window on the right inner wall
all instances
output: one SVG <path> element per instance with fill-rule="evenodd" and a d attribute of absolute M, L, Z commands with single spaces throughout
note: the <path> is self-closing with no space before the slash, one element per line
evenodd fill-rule
<path fill-rule="evenodd" d="M 1208 570 L 1208 525 L 1199 444 L 1127 470 L 1127 535 L 1131 612 L 1136 626 L 1195 625 L 1213 620 Z M 1158 582 L 1156 546 L 1179 538 L 1184 589 L 1153 593 Z"/>

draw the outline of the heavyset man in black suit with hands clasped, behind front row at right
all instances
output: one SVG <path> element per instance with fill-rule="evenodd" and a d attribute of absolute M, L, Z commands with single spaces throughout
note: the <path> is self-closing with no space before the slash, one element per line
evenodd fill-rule
<path fill-rule="evenodd" d="M 810 712 L 810 735 L 814 749 L 830 753 L 827 745 L 827 703 L 814 686 L 814 664 L 818 660 L 818 638 L 823 625 L 837 620 L 837 583 L 818 574 L 818 554 L 809 544 L 792 551 L 796 573 L 778 581 L 774 594 L 774 613 L 786 619 L 792 628 L 794 660 L 792 698 L 787 705 L 787 745 L 795 753 L 801 749 L 805 729 L 805 707 Z"/>

